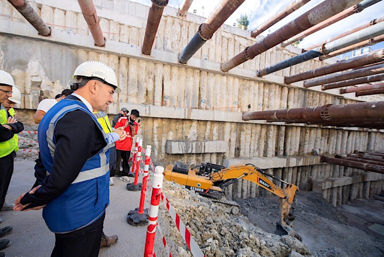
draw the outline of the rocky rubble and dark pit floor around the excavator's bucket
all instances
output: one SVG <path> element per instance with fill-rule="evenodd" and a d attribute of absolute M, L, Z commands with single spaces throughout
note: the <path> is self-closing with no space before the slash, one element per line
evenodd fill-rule
<path fill-rule="evenodd" d="M 358 219 L 356 213 L 347 212 L 349 205 L 336 209 L 313 192 L 299 192 L 297 197 L 294 228 L 303 238 L 302 242 L 274 234 L 279 205 L 273 196 L 238 200 L 242 215 L 233 216 L 224 213 L 221 206 L 208 198 L 177 184 L 164 182 L 163 192 L 208 257 L 384 256 L 384 235 L 372 233 L 365 226 L 368 224 L 363 224 L 364 228 L 352 226 Z M 358 207 L 361 217 L 373 215 L 376 223 L 384 224 L 383 203 L 359 201 L 365 201 L 365 206 L 360 203 Z M 369 201 L 374 202 L 374 210 L 369 210 L 366 201 L 369 206 L 372 205 Z M 370 213 L 361 213 L 361 208 Z M 173 256 L 191 256 L 163 206 L 159 211 L 159 226 Z"/>

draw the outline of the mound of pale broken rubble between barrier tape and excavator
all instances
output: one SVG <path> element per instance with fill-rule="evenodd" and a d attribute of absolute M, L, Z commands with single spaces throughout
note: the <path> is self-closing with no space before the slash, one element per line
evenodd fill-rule
<path fill-rule="evenodd" d="M 205 256 L 310 256 L 300 241 L 267 233 L 243 215 L 228 215 L 219 204 L 194 191 L 164 181 L 163 192 Z M 165 208 L 160 208 L 159 217 L 172 255 L 190 256 Z"/>

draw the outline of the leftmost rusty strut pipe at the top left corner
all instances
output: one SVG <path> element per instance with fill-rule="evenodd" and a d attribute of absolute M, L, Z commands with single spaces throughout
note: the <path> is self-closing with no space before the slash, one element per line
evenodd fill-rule
<path fill-rule="evenodd" d="M 26 0 L 8 0 L 13 7 L 37 30 L 40 35 L 49 36 L 51 29 L 38 16 L 37 12 L 29 5 Z"/>

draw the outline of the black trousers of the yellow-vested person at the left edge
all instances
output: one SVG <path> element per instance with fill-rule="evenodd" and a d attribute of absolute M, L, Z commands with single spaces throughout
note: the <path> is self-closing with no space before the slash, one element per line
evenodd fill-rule
<path fill-rule="evenodd" d="M 0 158 L 0 210 L 4 205 L 6 191 L 13 173 L 14 152 Z"/>

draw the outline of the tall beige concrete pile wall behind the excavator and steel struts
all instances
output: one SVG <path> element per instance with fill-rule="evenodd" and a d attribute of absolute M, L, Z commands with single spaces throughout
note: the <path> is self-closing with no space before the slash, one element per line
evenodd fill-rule
<path fill-rule="evenodd" d="M 68 88 L 75 67 L 87 60 L 98 60 L 116 72 L 122 92 L 114 95 L 108 112 L 119 108 L 138 109 L 142 118 L 140 136 L 152 145 L 152 159 L 158 164 L 183 161 L 188 164 L 222 164 L 224 158 L 253 158 L 351 153 L 354 150 L 384 150 L 384 133 L 368 129 L 319 128 L 300 124 L 264 121 L 244 122 L 241 112 L 343 104 L 356 98 L 302 88 L 302 82 L 287 86 L 283 76 L 328 65 L 311 60 L 256 78 L 255 70 L 294 56 L 297 48 L 274 47 L 229 73 L 219 64 L 255 42 L 248 31 L 223 25 L 188 62 L 177 63 L 177 53 L 186 45 L 204 18 L 188 13 L 187 20 L 176 17 L 176 9 L 166 7 L 154 42 L 153 57 L 140 55 L 148 7 L 124 0 L 96 0 L 100 26 L 106 37 L 105 47 L 93 46 L 93 40 L 77 1 L 29 1 L 42 19 L 52 26 L 52 36 L 42 37 L 6 1 L 0 3 L 0 68 L 11 73 L 22 92 L 20 108 L 31 121 L 31 111 L 43 98 Z M 327 60 L 329 61 L 329 60 Z M 375 99 L 375 98 L 372 98 Z M 20 111 L 18 111 L 20 113 Z M 28 123 L 28 121 L 24 121 Z M 213 153 L 186 151 L 167 154 L 167 140 L 226 141 L 228 147 Z M 381 143 L 378 143 L 381 142 Z M 203 144 L 196 144 L 203 145 Z M 182 147 L 180 148 L 182 149 Z M 201 150 L 201 149 L 200 149 Z M 273 169 L 274 168 L 274 169 Z M 360 174 L 361 171 L 335 165 L 304 165 L 289 168 L 271 166 L 268 172 L 311 189 L 311 181 Z M 357 182 L 353 182 L 356 184 Z M 360 183 L 360 182 L 359 182 Z M 363 183 L 363 182 L 362 182 Z M 382 179 L 370 182 L 370 192 L 383 187 Z M 340 186 L 342 192 L 351 187 Z M 362 188 L 359 184 L 358 188 Z M 336 203 L 362 196 L 344 193 Z M 361 191 L 361 192 L 360 192 Z M 333 201 L 335 190 L 322 190 Z M 349 191 L 348 191 L 349 192 Z M 228 188 L 229 198 L 254 197 L 254 184 L 239 181 Z M 367 194 L 364 194 L 365 196 Z M 368 194 L 370 195 L 370 193 Z M 333 196 L 333 197 L 332 197 Z"/>

